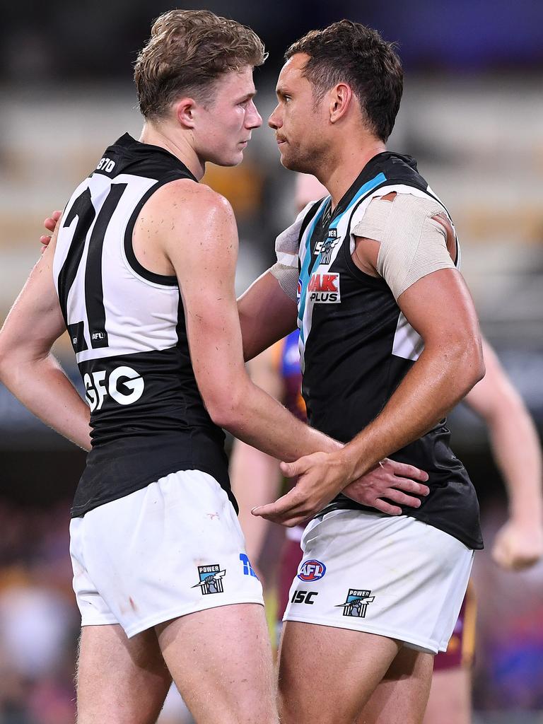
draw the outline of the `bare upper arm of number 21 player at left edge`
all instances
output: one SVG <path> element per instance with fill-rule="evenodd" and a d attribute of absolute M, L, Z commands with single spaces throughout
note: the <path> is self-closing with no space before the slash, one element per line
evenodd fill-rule
<path fill-rule="evenodd" d="M 4 355 L 40 359 L 65 331 L 53 277 L 55 240 L 41 256 L 22 288 L 1 330 Z"/>

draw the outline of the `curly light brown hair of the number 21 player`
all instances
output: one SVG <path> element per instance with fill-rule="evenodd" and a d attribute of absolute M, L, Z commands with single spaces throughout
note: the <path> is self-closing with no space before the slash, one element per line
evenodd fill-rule
<path fill-rule="evenodd" d="M 223 73 L 266 59 L 258 35 L 235 20 L 209 10 L 170 10 L 158 17 L 140 51 L 134 80 L 140 111 L 161 117 L 180 96 L 209 100 Z"/>

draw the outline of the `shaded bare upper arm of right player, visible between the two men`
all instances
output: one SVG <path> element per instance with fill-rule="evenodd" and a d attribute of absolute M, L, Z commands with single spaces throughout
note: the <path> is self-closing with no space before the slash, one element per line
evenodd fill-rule
<path fill-rule="evenodd" d="M 298 306 L 266 271 L 237 300 L 243 355 L 250 360 L 296 329 Z"/>

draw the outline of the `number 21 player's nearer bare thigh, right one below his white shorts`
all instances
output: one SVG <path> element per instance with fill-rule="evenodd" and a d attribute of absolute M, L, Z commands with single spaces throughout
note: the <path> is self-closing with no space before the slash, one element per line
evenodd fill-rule
<path fill-rule="evenodd" d="M 277 724 L 264 607 L 220 606 L 156 626 L 174 682 L 197 724 Z"/>

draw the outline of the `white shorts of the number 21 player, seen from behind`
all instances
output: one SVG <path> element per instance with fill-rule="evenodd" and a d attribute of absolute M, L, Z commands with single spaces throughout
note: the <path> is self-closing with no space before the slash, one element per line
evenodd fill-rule
<path fill-rule="evenodd" d="M 135 636 L 218 606 L 264 605 L 226 492 L 207 473 L 171 473 L 70 523 L 82 626 Z"/>

